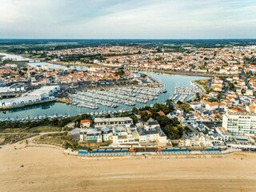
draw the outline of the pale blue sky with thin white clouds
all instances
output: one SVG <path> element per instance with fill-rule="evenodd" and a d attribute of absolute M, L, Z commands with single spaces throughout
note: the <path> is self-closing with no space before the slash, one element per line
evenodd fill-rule
<path fill-rule="evenodd" d="M 0 0 L 0 38 L 256 38 L 256 0 Z"/>

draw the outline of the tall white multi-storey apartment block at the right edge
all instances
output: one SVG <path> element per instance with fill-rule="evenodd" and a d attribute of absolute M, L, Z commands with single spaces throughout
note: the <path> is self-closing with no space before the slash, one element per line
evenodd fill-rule
<path fill-rule="evenodd" d="M 222 126 L 233 135 L 256 136 L 256 114 L 248 112 L 227 112 Z"/>

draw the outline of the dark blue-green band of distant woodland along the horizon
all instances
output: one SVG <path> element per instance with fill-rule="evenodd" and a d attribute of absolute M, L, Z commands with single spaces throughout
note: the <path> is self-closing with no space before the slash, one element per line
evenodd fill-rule
<path fill-rule="evenodd" d="M 26 51 L 74 49 L 86 46 L 140 46 L 183 52 L 183 47 L 221 48 L 256 45 L 256 39 L 0 39 L 1 50 L 13 54 Z"/>

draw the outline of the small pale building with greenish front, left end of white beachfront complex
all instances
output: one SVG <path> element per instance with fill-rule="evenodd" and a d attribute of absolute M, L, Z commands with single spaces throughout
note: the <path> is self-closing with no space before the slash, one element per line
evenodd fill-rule
<path fill-rule="evenodd" d="M 80 142 L 102 142 L 102 131 L 97 129 L 81 129 Z"/>

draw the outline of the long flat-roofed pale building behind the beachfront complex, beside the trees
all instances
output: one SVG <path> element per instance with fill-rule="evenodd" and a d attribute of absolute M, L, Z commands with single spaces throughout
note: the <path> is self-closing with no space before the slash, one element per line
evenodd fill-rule
<path fill-rule="evenodd" d="M 94 126 L 96 128 L 103 128 L 105 126 L 130 126 L 133 125 L 133 119 L 129 117 L 124 118 L 95 118 Z"/>

